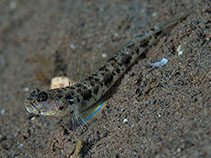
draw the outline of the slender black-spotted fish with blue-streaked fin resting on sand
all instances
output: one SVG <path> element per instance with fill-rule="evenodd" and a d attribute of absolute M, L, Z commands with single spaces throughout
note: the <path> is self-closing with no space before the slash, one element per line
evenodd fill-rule
<path fill-rule="evenodd" d="M 72 117 L 73 124 L 88 122 L 102 111 L 105 106 L 102 97 L 139 56 L 156 44 L 167 28 L 183 20 L 190 13 L 191 11 L 176 16 L 166 24 L 127 42 L 96 72 L 80 83 L 52 90 L 34 90 L 25 101 L 26 110 L 37 115 L 69 116 Z"/>

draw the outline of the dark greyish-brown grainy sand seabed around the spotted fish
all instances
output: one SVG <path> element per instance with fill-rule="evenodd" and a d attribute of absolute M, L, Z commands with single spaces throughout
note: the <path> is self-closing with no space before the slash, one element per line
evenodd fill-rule
<path fill-rule="evenodd" d="M 24 100 L 34 88 L 49 88 L 59 73 L 70 74 L 79 41 L 81 61 L 93 63 L 93 53 L 192 6 L 196 12 L 123 76 L 102 116 L 83 134 L 80 156 L 211 157 L 210 1 L 102 2 L 0 1 L 0 157 L 73 152 L 78 134 L 69 129 L 69 119 L 28 114 Z M 149 66 L 163 57 L 169 60 L 165 66 Z"/>

